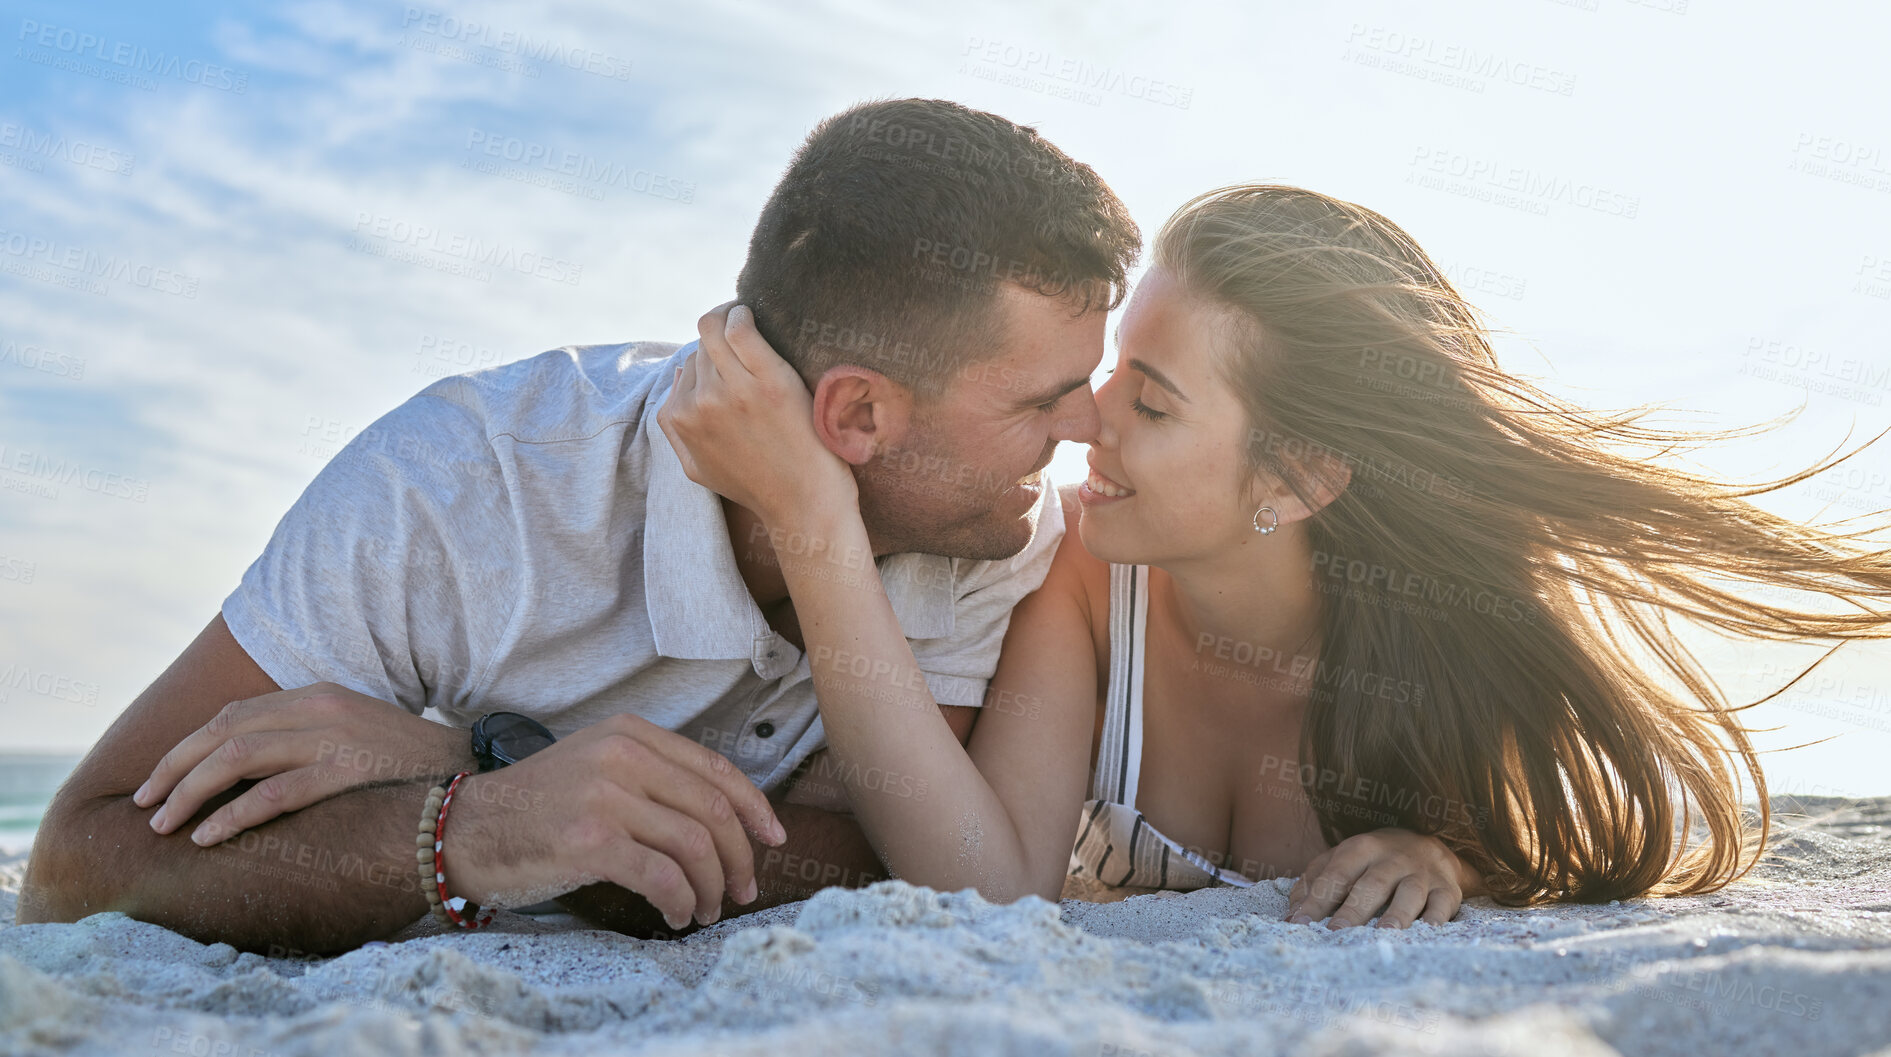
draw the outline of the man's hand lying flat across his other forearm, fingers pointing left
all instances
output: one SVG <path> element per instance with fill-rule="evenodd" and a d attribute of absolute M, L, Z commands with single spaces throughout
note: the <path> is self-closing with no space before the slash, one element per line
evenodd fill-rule
<path fill-rule="evenodd" d="M 221 843 L 252 826 L 374 781 L 477 770 L 465 730 L 333 683 L 231 702 L 165 754 L 132 794 L 151 828 L 168 834 L 212 796 L 263 779 L 191 832 Z"/>

